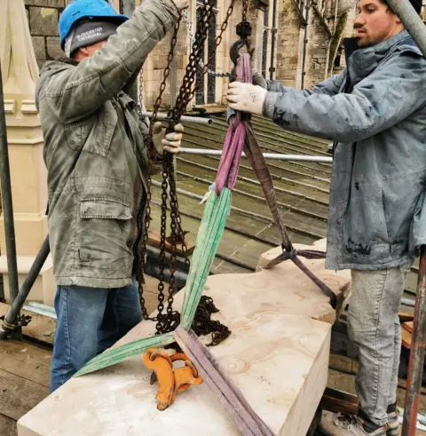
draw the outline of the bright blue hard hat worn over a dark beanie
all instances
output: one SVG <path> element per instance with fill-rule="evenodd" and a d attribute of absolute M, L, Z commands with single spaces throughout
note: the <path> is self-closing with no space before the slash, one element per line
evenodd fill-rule
<path fill-rule="evenodd" d="M 59 36 L 62 50 L 71 28 L 73 28 L 76 21 L 82 18 L 114 21 L 119 26 L 124 21 L 129 20 L 125 15 L 115 12 L 113 6 L 108 4 L 106 0 L 75 0 L 65 8 L 59 19 Z"/>

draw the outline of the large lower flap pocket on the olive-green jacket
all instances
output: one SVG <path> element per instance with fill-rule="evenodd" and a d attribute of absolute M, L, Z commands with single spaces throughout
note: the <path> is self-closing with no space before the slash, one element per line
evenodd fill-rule
<path fill-rule="evenodd" d="M 92 196 L 80 201 L 78 258 L 83 275 L 128 277 L 133 253 L 127 242 L 131 231 L 130 203 Z M 118 274 L 118 275 L 117 275 Z"/>

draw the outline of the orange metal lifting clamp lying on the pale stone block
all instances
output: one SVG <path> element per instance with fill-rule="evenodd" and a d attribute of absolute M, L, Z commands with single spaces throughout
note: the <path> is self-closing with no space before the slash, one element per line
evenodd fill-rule
<path fill-rule="evenodd" d="M 173 369 L 175 361 L 185 361 L 185 366 Z M 158 380 L 159 386 L 155 400 L 158 401 L 159 410 L 165 410 L 173 404 L 177 392 L 184 392 L 191 384 L 202 383 L 197 369 L 184 353 L 175 353 L 170 356 L 162 350 L 150 348 L 144 354 L 144 364 L 147 369 L 154 371 Z"/>

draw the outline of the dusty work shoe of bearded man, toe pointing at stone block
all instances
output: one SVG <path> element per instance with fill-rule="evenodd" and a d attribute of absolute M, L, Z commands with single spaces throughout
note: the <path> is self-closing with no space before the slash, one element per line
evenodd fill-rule
<path fill-rule="evenodd" d="M 319 429 L 327 436 L 387 436 L 384 426 L 378 427 L 359 416 L 327 411 L 322 412 Z"/>

